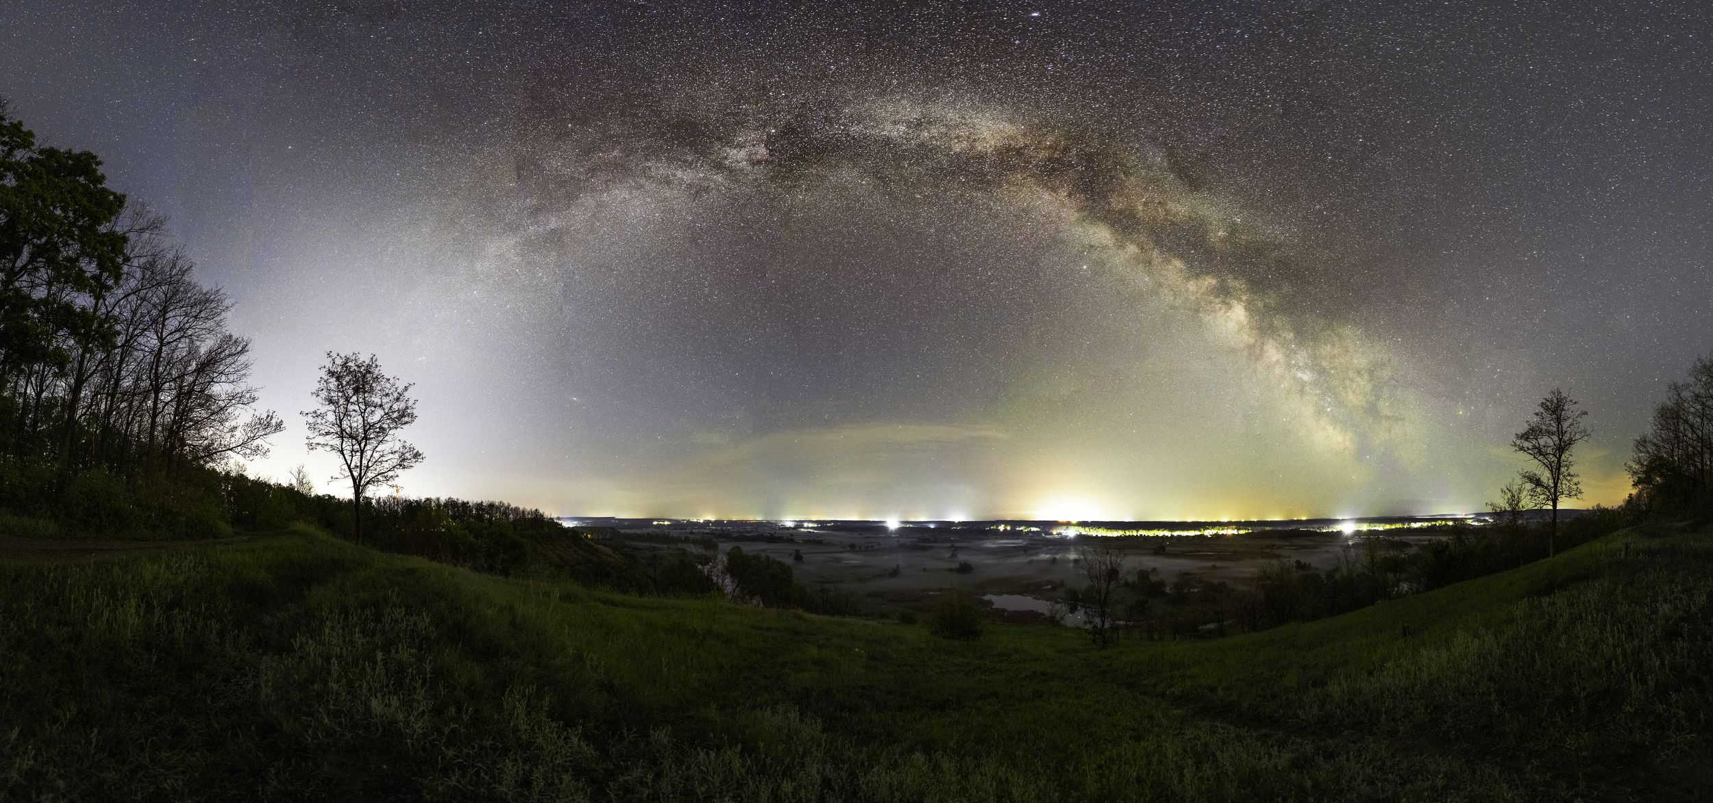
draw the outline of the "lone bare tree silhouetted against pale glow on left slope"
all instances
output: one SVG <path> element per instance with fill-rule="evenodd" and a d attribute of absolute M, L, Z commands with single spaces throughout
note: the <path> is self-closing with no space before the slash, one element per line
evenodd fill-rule
<path fill-rule="evenodd" d="M 356 510 L 356 543 L 363 543 L 363 497 L 370 488 L 391 483 L 421 462 L 416 447 L 397 438 L 399 430 L 416 421 L 413 385 L 380 372 L 373 354 L 327 353 L 320 382 L 315 384 L 319 409 L 303 413 L 308 447 L 339 457 L 334 481 L 351 483 Z"/>

